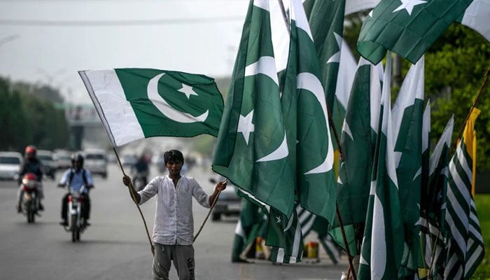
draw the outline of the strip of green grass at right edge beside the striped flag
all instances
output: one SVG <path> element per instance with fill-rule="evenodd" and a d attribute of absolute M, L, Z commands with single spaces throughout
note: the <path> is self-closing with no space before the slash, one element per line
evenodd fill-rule
<path fill-rule="evenodd" d="M 485 257 L 478 266 L 472 280 L 490 279 L 490 195 L 475 195 L 479 225 L 482 228 Z"/>

